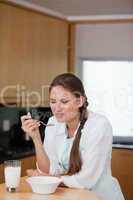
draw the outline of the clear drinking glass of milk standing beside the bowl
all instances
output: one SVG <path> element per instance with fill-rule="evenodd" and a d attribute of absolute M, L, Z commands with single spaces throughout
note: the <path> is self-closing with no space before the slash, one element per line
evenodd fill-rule
<path fill-rule="evenodd" d="M 7 160 L 4 162 L 5 185 L 8 192 L 15 192 L 21 176 L 21 161 Z"/>

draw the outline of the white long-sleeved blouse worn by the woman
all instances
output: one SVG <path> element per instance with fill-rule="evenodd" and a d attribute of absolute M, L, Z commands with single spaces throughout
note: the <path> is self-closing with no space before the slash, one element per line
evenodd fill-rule
<path fill-rule="evenodd" d="M 50 159 L 50 174 L 62 174 L 68 169 L 73 138 L 67 138 L 66 125 L 55 117 L 48 121 L 54 126 L 45 129 L 44 149 Z M 124 200 L 118 181 L 111 175 L 112 127 L 106 117 L 93 112 L 82 129 L 80 172 L 62 176 L 68 187 L 95 191 L 105 200 Z"/>

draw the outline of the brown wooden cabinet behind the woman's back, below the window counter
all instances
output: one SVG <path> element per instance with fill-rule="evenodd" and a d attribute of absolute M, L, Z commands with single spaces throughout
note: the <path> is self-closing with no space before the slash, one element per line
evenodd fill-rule
<path fill-rule="evenodd" d="M 133 150 L 113 149 L 112 173 L 121 185 L 126 200 L 133 200 Z"/>

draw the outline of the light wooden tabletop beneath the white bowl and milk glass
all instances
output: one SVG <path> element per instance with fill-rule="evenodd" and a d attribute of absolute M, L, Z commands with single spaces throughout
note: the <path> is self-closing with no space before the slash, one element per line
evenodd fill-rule
<path fill-rule="evenodd" d="M 102 200 L 92 191 L 66 187 L 58 187 L 53 194 L 36 194 L 31 191 L 25 179 L 21 178 L 20 186 L 15 193 L 7 192 L 5 184 L 0 184 L 0 200 Z"/>

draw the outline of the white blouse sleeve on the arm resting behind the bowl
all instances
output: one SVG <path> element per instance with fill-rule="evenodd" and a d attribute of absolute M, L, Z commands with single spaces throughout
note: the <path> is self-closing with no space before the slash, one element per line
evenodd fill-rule
<path fill-rule="evenodd" d="M 87 131 L 87 130 L 86 130 Z M 82 133 L 84 134 L 84 133 Z M 112 150 L 112 127 L 107 119 L 100 121 L 88 137 L 84 137 L 81 151 L 82 168 L 72 176 L 62 176 L 62 182 L 68 187 L 92 189 L 110 164 Z"/>

